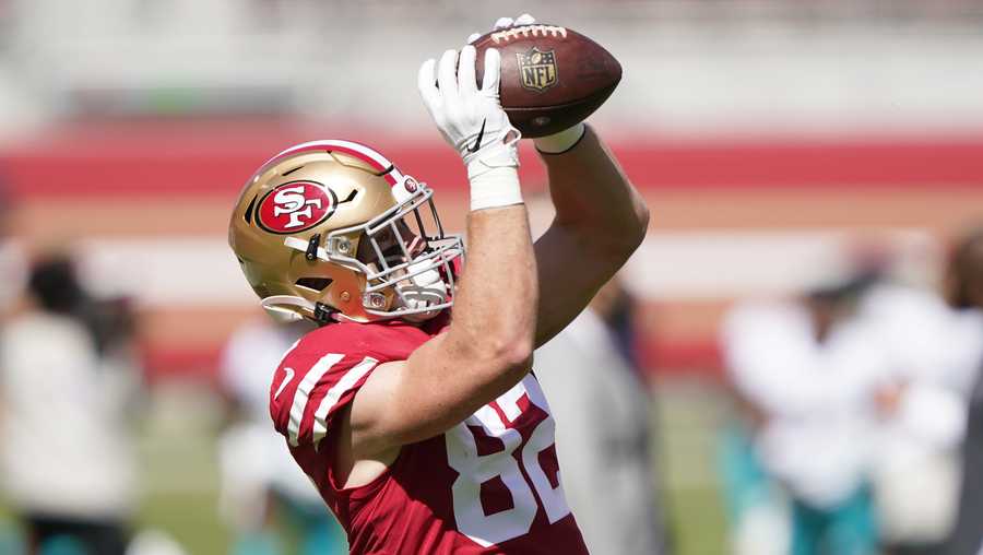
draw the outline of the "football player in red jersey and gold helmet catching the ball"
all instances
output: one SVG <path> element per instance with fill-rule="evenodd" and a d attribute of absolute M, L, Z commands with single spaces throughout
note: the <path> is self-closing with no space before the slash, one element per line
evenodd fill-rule
<path fill-rule="evenodd" d="M 430 188 L 348 141 L 277 154 L 232 216 L 262 305 L 320 324 L 276 368 L 270 411 L 352 553 L 587 553 L 532 353 L 625 263 L 648 210 L 578 125 L 535 140 L 556 219 L 533 245 L 497 51 L 484 69 L 478 87 L 465 46 L 418 80 L 467 168 L 466 264 Z"/>

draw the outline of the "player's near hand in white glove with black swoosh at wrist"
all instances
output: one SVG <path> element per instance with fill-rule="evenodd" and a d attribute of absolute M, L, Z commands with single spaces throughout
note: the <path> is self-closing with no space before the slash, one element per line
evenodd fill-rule
<path fill-rule="evenodd" d="M 417 85 L 424 105 L 445 140 L 464 158 L 469 177 L 497 167 L 518 167 L 519 131 L 498 97 L 501 58 L 498 50 L 485 51 L 485 74 L 481 88 L 475 79 L 473 46 L 447 50 L 440 61 L 429 59 L 419 68 Z"/>

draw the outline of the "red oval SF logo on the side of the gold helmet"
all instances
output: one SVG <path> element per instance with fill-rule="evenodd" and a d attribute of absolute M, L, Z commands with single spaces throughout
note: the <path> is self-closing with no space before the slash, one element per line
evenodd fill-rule
<path fill-rule="evenodd" d="M 260 226 L 272 233 L 297 233 L 328 219 L 336 202 L 331 189 L 313 181 L 291 181 L 268 192 L 257 209 Z"/>

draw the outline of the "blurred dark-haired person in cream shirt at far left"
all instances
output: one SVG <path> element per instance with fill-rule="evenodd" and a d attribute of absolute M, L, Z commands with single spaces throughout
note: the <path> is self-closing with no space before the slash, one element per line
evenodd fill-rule
<path fill-rule="evenodd" d="M 29 553 L 69 542 L 122 554 L 137 503 L 132 318 L 125 303 L 91 298 L 68 258 L 34 264 L 28 292 L 0 329 L 4 497 Z"/>

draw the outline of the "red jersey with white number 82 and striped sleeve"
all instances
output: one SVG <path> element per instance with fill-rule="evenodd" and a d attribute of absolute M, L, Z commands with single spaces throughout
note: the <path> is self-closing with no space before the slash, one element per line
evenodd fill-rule
<path fill-rule="evenodd" d="M 330 324 L 298 341 L 273 377 L 276 430 L 347 531 L 352 553 L 588 553 L 532 374 L 445 434 L 403 446 L 369 484 L 345 489 L 335 481 L 339 411 L 378 365 L 405 361 L 441 329 L 401 320 Z"/>

